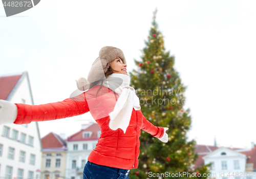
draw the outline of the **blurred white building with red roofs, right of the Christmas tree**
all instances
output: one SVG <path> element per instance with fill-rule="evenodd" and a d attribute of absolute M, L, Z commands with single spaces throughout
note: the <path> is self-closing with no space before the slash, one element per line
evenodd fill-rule
<path fill-rule="evenodd" d="M 194 168 L 211 163 L 209 168 L 211 175 L 208 178 L 255 178 L 256 147 L 254 143 L 249 149 L 197 145 L 196 152 L 199 154 L 199 158 Z"/>

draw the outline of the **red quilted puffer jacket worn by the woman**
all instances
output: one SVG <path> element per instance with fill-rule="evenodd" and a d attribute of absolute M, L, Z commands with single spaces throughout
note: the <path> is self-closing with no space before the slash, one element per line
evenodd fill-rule
<path fill-rule="evenodd" d="M 156 138 L 164 135 L 163 127 L 154 126 L 133 108 L 130 124 L 124 133 L 122 129 L 109 127 L 110 114 L 115 107 L 118 95 L 111 89 L 95 85 L 87 92 L 61 102 L 27 105 L 16 104 L 18 108 L 15 124 L 29 124 L 32 121 L 48 121 L 81 115 L 90 111 L 99 124 L 101 135 L 88 157 L 88 161 L 122 169 L 138 168 L 140 129 Z M 90 109 L 89 109 L 90 108 Z"/>

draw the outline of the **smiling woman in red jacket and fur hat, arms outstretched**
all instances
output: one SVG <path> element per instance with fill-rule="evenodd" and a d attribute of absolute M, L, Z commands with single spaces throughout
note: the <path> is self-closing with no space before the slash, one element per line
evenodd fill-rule
<path fill-rule="evenodd" d="M 129 178 L 131 169 L 138 168 L 140 129 L 168 141 L 167 127 L 147 121 L 140 110 L 139 98 L 130 86 L 123 52 L 103 47 L 95 60 L 88 80 L 80 78 L 78 89 L 83 92 L 64 101 L 26 105 L 0 100 L 0 124 L 29 124 L 82 115 L 90 111 L 101 128 L 96 148 L 84 167 L 83 179 Z"/>

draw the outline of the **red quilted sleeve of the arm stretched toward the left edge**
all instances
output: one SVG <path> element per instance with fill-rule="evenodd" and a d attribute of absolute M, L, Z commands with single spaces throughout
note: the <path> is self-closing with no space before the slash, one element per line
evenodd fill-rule
<path fill-rule="evenodd" d="M 18 113 L 14 124 L 69 118 L 89 111 L 85 93 L 60 102 L 41 105 L 16 104 L 16 106 Z"/>

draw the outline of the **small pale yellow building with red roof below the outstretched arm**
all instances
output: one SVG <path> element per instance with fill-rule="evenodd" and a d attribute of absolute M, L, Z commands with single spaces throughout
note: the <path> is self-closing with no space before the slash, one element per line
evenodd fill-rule
<path fill-rule="evenodd" d="M 65 178 L 67 144 L 62 138 L 51 132 L 41 139 L 41 179 Z"/>

